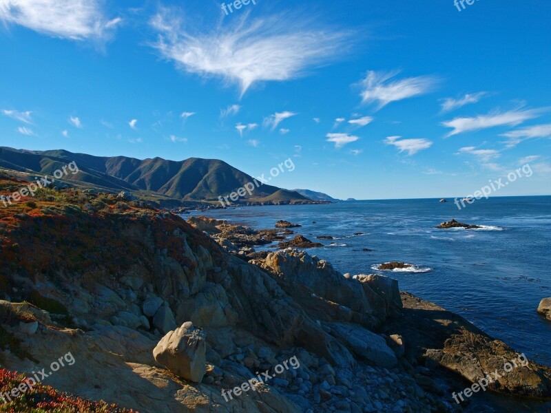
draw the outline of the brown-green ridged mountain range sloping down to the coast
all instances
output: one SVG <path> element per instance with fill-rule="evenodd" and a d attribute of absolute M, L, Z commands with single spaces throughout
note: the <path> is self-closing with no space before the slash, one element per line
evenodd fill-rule
<path fill-rule="evenodd" d="M 63 180 L 84 187 L 109 191 L 132 191 L 141 198 L 218 202 L 218 197 L 253 182 L 253 177 L 222 160 L 189 158 L 181 161 L 152 158 L 140 160 L 125 156 L 92 156 L 65 150 L 28 151 L 0 147 L 0 167 L 20 173 L 52 176 L 54 171 L 75 162 L 78 173 Z M 256 187 L 239 202 L 307 203 L 309 198 L 271 185 Z"/>

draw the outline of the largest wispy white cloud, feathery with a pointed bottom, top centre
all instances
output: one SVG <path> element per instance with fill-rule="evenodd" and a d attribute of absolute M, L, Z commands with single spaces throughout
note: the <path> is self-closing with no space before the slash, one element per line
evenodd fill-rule
<path fill-rule="evenodd" d="M 263 19 L 236 16 L 208 31 L 191 30 L 177 9 L 161 8 L 151 24 L 160 34 L 154 45 L 185 72 L 237 83 L 241 95 L 254 83 L 287 81 L 309 67 L 326 63 L 346 50 L 350 32 L 324 30 L 313 19 L 278 14 Z"/>

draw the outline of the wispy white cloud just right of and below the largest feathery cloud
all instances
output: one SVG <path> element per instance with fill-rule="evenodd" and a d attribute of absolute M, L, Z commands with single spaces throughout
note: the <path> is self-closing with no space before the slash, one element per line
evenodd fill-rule
<path fill-rule="evenodd" d="M 379 108 L 397 100 L 413 98 L 434 89 L 438 79 L 433 76 L 418 76 L 391 80 L 397 72 L 367 73 L 362 81 L 362 102 L 378 102 Z"/>

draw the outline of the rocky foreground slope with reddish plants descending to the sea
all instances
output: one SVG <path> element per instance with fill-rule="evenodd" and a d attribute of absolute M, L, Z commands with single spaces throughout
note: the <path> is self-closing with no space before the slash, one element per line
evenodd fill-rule
<path fill-rule="evenodd" d="M 0 179 L 4 191 L 21 184 Z M 1 366 L 32 374 L 71 352 L 74 365 L 45 384 L 139 412 L 451 412 L 468 404 L 451 397 L 462 378 L 476 381 L 514 354 L 461 317 L 401 295 L 393 279 L 345 276 L 295 249 L 244 253 L 228 237 L 259 231 L 190 222 L 197 228 L 74 189 L 0 209 Z M 205 374 L 194 380 L 164 352 L 156 350 L 162 364 L 154 358 L 165 335 L 189 330 L 205 346 Z M 186 352 L 194 366 L 199 352 Z M 278 372 L 293 357 L 300 366 Z M 260 372 L 275 378 L 223 396 Z M 491 390 L 541 407 L 551 370 L 530 361 Z"/>

